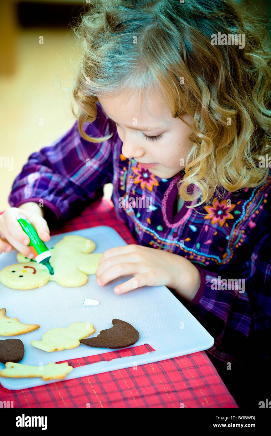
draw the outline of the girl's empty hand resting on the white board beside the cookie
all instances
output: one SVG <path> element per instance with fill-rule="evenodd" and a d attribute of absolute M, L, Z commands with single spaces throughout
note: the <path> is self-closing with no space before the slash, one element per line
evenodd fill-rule
<path fill-rule="evenodd" d="M 96 271 L 98 285 L 130 275 L 135 277 L 116 286 L 115 293 L 123 294 L 141 286 L 165 285 L 191 301 L 200 287 L 198 269 L 181 255 L 136 244 L 104 252 Z"/>

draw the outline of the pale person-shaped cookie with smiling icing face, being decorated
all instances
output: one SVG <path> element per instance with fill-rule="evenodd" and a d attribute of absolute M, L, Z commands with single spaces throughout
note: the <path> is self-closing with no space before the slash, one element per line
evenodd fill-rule
<path fill-rule="evenodd" d="M 68 235 L 50 249 L 51 276 L 46 266 L 17 254 L 20 263 L 6 266 L 0 271 L 0 282 L 12 289 L 34 289 L 50 281 L 61 286 L 76 287 L 87 283 L 87 276 L 95 274 L 102 254 L 93 253 L 96 245 L 90 239 Z"/>

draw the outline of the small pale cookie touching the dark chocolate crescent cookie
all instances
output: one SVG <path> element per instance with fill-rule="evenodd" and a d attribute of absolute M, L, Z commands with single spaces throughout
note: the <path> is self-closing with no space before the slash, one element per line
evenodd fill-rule
<path fill-rule="evenodd" d="M 79 347 L 80 339 L 90 336 L 95 329 L 90 323 L 73 323 L 66 328 L 52 328 L 43 334 L 41 341 L 31 341 L 31 345 L 44 351 L 61 351 Z"/>

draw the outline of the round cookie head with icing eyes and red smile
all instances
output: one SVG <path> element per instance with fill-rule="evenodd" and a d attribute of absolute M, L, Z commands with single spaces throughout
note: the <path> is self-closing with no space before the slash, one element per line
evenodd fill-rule
<path fill-rule="evenodd" d="M 3 285 L 12 289 L 33 289 L 45 285 L 49 280 L 49 273 L 44 266 L 35 264 L 28 266 L 24 263 L 7 266 L 0 272 Z"/>

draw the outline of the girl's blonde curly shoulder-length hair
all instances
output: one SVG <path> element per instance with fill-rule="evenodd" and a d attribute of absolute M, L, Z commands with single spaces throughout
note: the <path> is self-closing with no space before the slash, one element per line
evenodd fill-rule
<path fill-rule="evenodd" d="M 256 187 L 271 152 L 271 51 L 266 32 L 233 0 L 95 0 L 74 27 L 83 42 L 72 96 L 81 136 L 101 95 L 157 95 L 173 117 L 194 119 L 184 177 L 185 201 Z M 244 48 L 213 45 L 213 34 L 245 35 Z M 136 43 L 135 38 L 137 39 Z M 198 189 L 189 194 L 187 188 Z M 221 194 L 222 192 L 222 194 Z"/>

